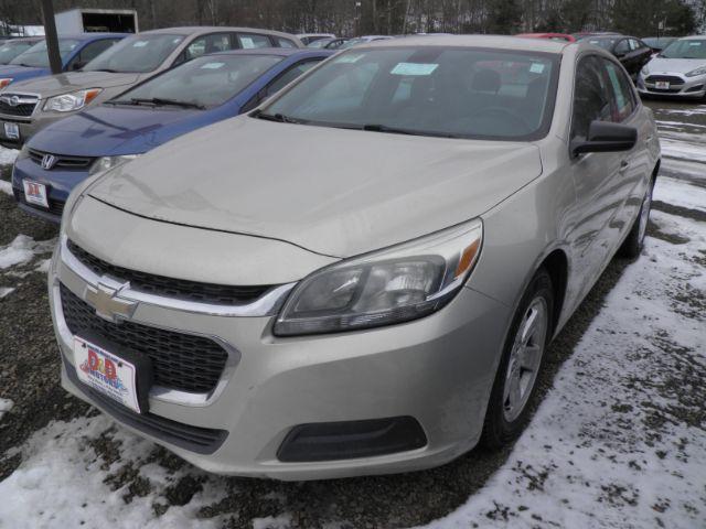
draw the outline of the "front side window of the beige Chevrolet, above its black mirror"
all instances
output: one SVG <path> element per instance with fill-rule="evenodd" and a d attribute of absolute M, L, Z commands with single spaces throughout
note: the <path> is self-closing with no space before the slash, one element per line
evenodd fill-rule
<path fill-rule="evenodd" d="M 581 58 L 576 67 L 570 138 L 586 139 L 591 121 L 612 121 L 611 110 L 610 91 L 600 60 L 595 55 Z"/>

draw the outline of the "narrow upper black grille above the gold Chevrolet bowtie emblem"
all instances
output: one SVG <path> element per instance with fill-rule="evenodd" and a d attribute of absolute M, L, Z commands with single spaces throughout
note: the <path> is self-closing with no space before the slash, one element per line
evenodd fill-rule
<path fill-rule="evenodd" d="M 98 276 L 111 276 L 120 281 L 129 281 L 130 287 L 136 290 L 167 298 L 221 305 L 242 305 L 257 300 L 270 289 L 270 287 L 231 287 L 201 283 L 128 270 L 98 259 L 72 240 L 68 241 L 68 251 Z"/>

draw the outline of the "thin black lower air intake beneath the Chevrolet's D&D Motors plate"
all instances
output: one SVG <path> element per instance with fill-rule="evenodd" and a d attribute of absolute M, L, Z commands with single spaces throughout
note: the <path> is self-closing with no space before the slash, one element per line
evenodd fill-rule
<path fill-rule="evenodd" d="M 135 413 L 132 410 L 83 384 L 78 379 L 74 367 L 66 360 L 64 360 L 64 367 L 74 386 L 103 408 L 106 413 L 136 430 L 197 454 L 213 454 L 228 436 L 228 432 L 225 430 L 192 427 L 191 424 L 172 421 L 153 413 Z"/>

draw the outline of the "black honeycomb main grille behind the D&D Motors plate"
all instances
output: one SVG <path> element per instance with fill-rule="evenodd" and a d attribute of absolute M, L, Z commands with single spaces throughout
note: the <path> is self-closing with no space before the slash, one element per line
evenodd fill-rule
<path fill-rule="evenodd" d="M 154 384 L 194 393 L 212 391 L 228 353 L 214 341 L 135 322 L 108 322 L 63 284 L 60 288 L 66 326 L 81 336 L 93 333 L 152 360 Z"/>

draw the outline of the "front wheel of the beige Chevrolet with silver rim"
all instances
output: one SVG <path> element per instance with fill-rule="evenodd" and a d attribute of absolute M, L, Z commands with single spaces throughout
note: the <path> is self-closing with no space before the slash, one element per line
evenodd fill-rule
<path fill-rule="evenodd" d="M 499 450 L 524 430 L 536 398 L 544 353 L 552 337 L 553 315 L 552 278 L 545 269 L 539 269 L 522 296 L 505 338 L 483 423 L 481 444 L 485 447 Z M 531 321 L 535 322 L 534 331 Z M 527 331 L 532 334 L 523 345 L 522 335 Z M 532 348 L 535 352 L 528 355 Z"/>

